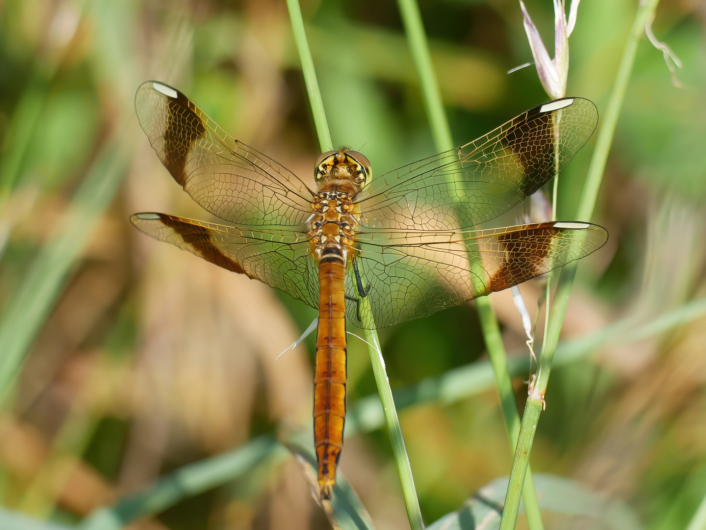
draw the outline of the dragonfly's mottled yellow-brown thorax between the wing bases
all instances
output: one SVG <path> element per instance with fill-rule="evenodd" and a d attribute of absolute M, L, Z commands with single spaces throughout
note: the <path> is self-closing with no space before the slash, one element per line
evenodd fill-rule
<path fill-rule="evenodd" d="M 358 226 L 357 207 L 349 182 L 326 183 L 311 203 L 309 241 L 316 261 L 336 260 L 346 265 Z"/>

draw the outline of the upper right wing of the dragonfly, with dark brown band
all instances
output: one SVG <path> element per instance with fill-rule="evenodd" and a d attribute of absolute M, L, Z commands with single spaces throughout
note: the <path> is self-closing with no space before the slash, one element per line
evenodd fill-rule
<path fill-rule="evenodd" d="M 583 147 L 598 123 L 589 100 L 537 105 L 462 147 L 373 179 L 355 200 L 378 229 L 472 229 L 520 204 Z M 555 156 L 556 155 L 558 156 Z"/>

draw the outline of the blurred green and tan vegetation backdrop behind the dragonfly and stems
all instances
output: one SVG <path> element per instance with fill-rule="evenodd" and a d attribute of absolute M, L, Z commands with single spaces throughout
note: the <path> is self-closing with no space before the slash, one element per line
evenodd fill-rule
<path fill-rule="evenodd" d="M 534 67 L 506 73 L 532 60 L 517 3 L 419 4 L 455 142 L 547 99 Z M 301 5 L 335 146 L 363 151 L 378 175 L 432 155 L 396 3 Z M 599 112 L 636 5 L 579 8 L 568 95 Z M 527 8 L 551 52 L 551 2 Z M 662 53 L 640 43 L 592 219 L 610 240 L 580 265 L 563 328 L 575 344 L 618 321 L 649 328 L 706 294 L 705 25 L 699 0 L 657 11 L 654 32 L 683 61 L 682 88 Z M 318 156 L 283 0 L 0 2 L 0 505 L 67 525 L 256 435 L 311 429 L 311 337 L 275 357 L 314 311 L 128 222 L 138 211 L 210 218 L 140 131 L 133 97 L 148 79 L 297 174 L 308 177 Z M 573 219 L 591 154 L 592 143 L 562 174 L 560 219 Z M 531 313 L 540 290 L 522 286 Z M 526 359 L 510 295 L 491 303 L 505 347 Z M 483 339 L 470 304 L 381 330 L 381 340 L 393 390 L 410 404 L 400 420 L 430 523 L 510 471 L 492 387 L 470 382 L 453 399 L 409 393 L 481 366 Z M 354 410 L 375 383 L 365 345 L 350 342 Z M 526 380 L 513 380 L 520 410 Z M 704 316 L 639 341 L 616 332 L 554 371 L 533 470 L 625 501 L 647 529 L 683 528 L 706 494 L 705 384 Z M 387 434 L 379 423 L 358 431 L 343 473 L 377 528 L 407 528 Z M 547 514 L 546 524 L 576 522 Z M 292 457 L 131 526 L 326 527 Z"/>

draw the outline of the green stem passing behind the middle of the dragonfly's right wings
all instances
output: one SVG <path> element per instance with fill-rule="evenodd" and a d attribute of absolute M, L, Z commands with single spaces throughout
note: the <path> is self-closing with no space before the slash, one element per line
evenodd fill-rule
<path fill-rule="evenodd" d="M 448 125 L 448 119 L 444 111 L 443 102 L 441 100 L 441 92 L 438 88 L 436 73 L 431 64 L 431 54 L 429 54 L 429 44 L 426 40 L 424 32 L 424 24 L 419 13 L 419 6 L 416 0 L 397 0 L 397 5 L 400 8 L 402 23 L 405 25 L 407 41 L 409 49 L 412 53 L 412 61 L 417 68 L 417 75 L 421 83 L 421 92 L 424 97 L 424 105 L 429 116 L 429 124 L 433 135 L 436 149 L 439 151 L 448 151 L 455 147 L 451 129 Z M 505 356 L 505 347 L 503 339 L 500 335 L 500 327 L 498 320 L 490 306 L 490 301 L 487 296 L 481 296 L 476 299 L 476 308 L 483 330 L 488 355 L 493 365 L 493 373 L 495 374 L 498 394 L 500 395 L 501 409 L 503 411 L 503 420 L 505 421 L 505 430 L 510 442 L 510 450 L 515 452 L 517 444 L 517 435 L 520 433 L 520 414 L 517 412 L 515 404 L 515 392 L 513 392 L 510 373 L 508 372 L 508 361 Z M 530 472 L 531 474 L 531 472 Z M 541 530 L 544 528 L 542 517 L 539 513 L 539 503 L 537 502 L 537 493 L 534 490 L 534 483 L 527 481 L 525 486 L 525 510 L 527 512 L 527 521 L 532 530 Z"/>

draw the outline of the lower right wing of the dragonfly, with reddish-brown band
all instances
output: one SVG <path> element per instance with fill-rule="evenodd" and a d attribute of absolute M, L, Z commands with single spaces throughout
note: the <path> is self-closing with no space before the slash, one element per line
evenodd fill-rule
<path fill-rule="evenodd" d="M 590 223 L 544 222 L 470 234 L 369 231 L 356 239 L 358 270 L 372 318 L 353 302 L 348 303 L 347 316 L 369 328 L 425 317 L 521 284 L 596 251 L 608 233 Z M 353 270 L 346 291 L 349 300 L 357 299 Z"/>

